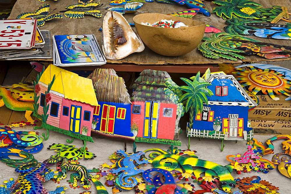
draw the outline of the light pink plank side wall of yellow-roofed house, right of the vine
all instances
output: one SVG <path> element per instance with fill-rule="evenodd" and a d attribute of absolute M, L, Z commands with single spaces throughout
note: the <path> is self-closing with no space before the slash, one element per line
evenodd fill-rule
<path fill-rule="evenodd" d="M 49 110 L 47 111 L 47 114 L 49 116 L 47 117 L 47 124 L 55 126 L 55 127 L 58 127 L 58 128 L 61 128 L 59 123 L 60 123 L 60 115 L 61 115 L 63 97 L 58 96 L 58 95 L 53 94 L 53 93 L 49 93 L 49 94 L 51 95 L 52 99 L 48 103 L 49 104 Z M 60 104 L 59 107 L 58 107 L 58 117 L 50 115 L 52 102 Z"/>

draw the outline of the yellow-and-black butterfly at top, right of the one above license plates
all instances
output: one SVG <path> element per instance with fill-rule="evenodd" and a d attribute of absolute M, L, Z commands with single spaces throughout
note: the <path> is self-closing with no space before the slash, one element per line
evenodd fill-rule
<path fill-rule="evenodd" d="M 101 4 L 99 6 L 100 2 L 92 2 L 92 3 L 85 3 L 85 5 L 82 4 L 74 4 L 67 6 L 66 9 L 60 12 L 65 12 L 64 16 L 69 18 L 84 18 L 85 14 L 93 15 L 95 17 L 102 17 L 102 13 L 99 10 L 96 10 L 97 7 L 102 6 Z"/>

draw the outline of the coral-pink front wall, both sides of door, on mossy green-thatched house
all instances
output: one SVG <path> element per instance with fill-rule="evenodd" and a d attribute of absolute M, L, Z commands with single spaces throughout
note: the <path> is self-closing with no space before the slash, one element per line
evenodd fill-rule
<path fill-rule="evenodd" d="M 143 122 L 144 122 L 144 109 L 145 102 L 132 102 L 131 112 L 133 105 L 141 105 L 141 114 L 131 114 L 132 123 L 136 122 L 139 124 L 139 132 L 137 137 L 143 137 Z M 175 134 L 175 122 L 177 117 L 177 105 L 160 103 L 159 108 L 159 121 L 158 121 L 158 134 L 159 139 L 174 139 Z M 164 108 L 172 108 L 172 117 L 163 116 Z"/>

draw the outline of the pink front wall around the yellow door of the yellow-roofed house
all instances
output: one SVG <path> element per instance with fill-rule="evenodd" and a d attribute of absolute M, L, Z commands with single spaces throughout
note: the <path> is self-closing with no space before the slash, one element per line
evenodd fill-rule
<path fill-rule="evenodd" d="M 94 110 L 94 106 L 90 105 L 90 104 L 86 104 L 86 103 L 81 103 L 79 101 L 76 100 L 70 100 L 70 99 L 66 99 L 63 98 L 63 103 L 62 103 L 62 109 L 61 114 L 60 114 L 60 127 L 61 129 L 64 130 L 70 130 L 70 115 L 71 115 L 71 105 L 75 105 L 75 106 L 81 106 L 81 127 L 84 126 L 88 126 L 89 129 L 91 129 L 91 125 L 92 125 L 92 120 L 93 120 L 93 110 Z M 69 114 L 68 116 L 64 116 L 63 115 L 63 107 L 69 107 Z M 90 111 L 90 120 L 89 121 L 84 121 L 84 111 Z M 82 130 L 80 129 L 80 134 L 82 134 Z M 91 130 L 88 130 L 87 136 L 91 136 Z"/>

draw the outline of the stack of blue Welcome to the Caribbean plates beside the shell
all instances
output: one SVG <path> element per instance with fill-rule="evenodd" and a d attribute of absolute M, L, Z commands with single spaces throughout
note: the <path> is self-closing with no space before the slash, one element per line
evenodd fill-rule
<path fill-rule="evenodd" d="M 107 61 L 93 34 L 54 35 L 54 65 L 102 65 Z"/>

